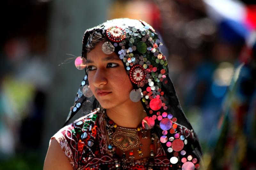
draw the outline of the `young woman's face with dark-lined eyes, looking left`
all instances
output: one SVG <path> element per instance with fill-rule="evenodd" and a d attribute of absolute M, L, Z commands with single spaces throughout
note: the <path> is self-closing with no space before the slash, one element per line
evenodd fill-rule
<path fill-rule="evenodd" d="M 131 102 L 129 95 L 132 83 L 126 73 L 123 61 L 115 52 L 107 55 L 102 52 L 101 41 L 87 53 L 88 81 L 95 98 L 103 108 L 112 108 Z"/>

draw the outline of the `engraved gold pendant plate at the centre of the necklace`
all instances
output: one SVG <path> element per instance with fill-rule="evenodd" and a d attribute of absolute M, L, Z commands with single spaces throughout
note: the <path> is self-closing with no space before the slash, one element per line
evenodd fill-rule
<path fill-rule="evenodd" d="M 140 145 L 140 138 L 136 129 L 117 127 L 112 135 L 112 144 L 122 151 L 137 148 Z"/>

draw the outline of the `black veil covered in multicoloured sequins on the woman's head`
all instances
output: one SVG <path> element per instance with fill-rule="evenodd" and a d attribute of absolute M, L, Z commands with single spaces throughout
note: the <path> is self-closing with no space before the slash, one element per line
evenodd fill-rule
<path fill-rule="evenodd" d="M 75 61 L 80 70 L 86 68 L 85 46 L 88 38 L 96 32 L 107 37 L 102 51 L 105 54 L 115 52 L 123 61 L 134 87 L 130 99 L 141 101 L 148 115 L 143 119 L 142 126 L 145 129 L 154 128 L 173 167 L 199 168 L 201 147 L 180 106 L 169 78 L 166 57 L 160 52 L 162 43 L 155 30 L 144 21 L 128 18 L 113 19 L 86 30 L 82 56 Z M 85 71 L 65 125 L 97 107 L 99 102 L 89 88 Z"/>

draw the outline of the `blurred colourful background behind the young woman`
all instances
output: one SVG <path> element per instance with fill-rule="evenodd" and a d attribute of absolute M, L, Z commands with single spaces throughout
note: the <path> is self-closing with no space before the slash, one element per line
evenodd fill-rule
<path fill-rule="evenodd" d="M 0 169 L 42 169 L 73 105 L 84 31 L 142 19 L 159 33 L 206 169 L 256 169 L 256 5 L 238 0 L 9 0 L 1 5 Z M 69 55 L 71 54 L 71 55 Z M 69 59 L 69 60 L 68 60 Z"/>

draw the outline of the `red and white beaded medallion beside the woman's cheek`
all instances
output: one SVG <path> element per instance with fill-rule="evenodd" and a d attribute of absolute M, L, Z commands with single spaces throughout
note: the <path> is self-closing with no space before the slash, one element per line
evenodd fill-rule
<path fill-rule="evenodd" d="M 139 64 L 134 65 L 130 70 L 130 79 L 134 84 L 140 84 L 143 82 L 146 77 L 145 75 L 145 69 Z"/>

